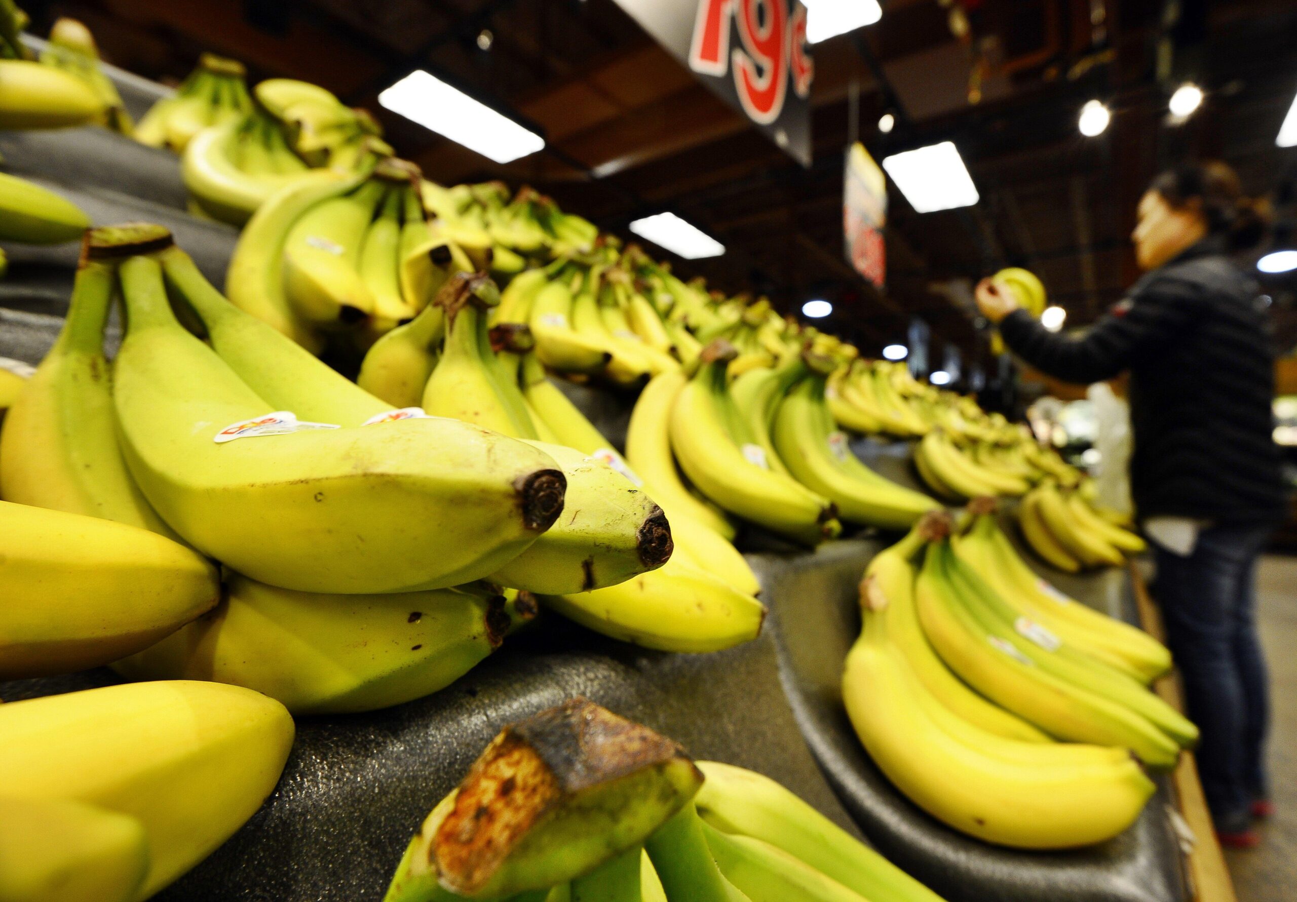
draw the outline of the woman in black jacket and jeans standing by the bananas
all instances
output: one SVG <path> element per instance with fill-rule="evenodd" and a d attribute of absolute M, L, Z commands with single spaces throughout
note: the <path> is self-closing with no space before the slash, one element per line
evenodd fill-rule
<path fill-rule="evenodd" d="M 1259 289 L 1227 254 L 1265 233 L 1224 163 L 1160 175 L 1131 235 L 1147 271 L 1079 337 L 1053 334 L 990 280 L 982 314 L 1032 367 L 1096 382 L 1130 372 L 1131 494 L 1154 595 L 1202 737 L 1198 772 L 1223 844 L 1268 814 L 1268 687 L 1254 621 L 1257 556 L 1285 511 L 1272 439 L 1274 353 Z"/>

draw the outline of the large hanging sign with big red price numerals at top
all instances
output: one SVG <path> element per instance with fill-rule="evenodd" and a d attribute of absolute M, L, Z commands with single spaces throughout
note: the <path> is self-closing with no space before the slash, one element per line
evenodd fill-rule
<path fill-rule="evenodd" d="M 617 0 L 713 93 L 811 165 L 807 9 L 799 0 Z"/>

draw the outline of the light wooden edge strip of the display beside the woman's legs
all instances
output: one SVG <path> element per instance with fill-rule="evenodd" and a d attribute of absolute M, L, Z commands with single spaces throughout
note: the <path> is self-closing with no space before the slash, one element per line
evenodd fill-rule
<path fill-rule="evenodd" d="M 1128 568 L 1140 625 L 1158 642 L 1165 642 L 1162 616 L 1148 594 L 1144 577 L 1134 561 L 1128 564 Z M 1176 710 L 1184 710 L 1180 684 L 1174 673 L 1157 680 L 1153 689 Z M 1233 892 L 1233 880 L 1230 879 L 1230 868 L 1224 863 L 1224 854 L 1220 851 L 1215 829 L 1211 827 L 1208 800 L 1202 794 L 1198 767 L 1192 753 L 1185 752 L 1180 756 L 1180 763 L 1171 774 L 1171 785 L 1175 789 L 1180 815 L 1193 831 L 1193 850 L 1187 857 L 1192 898 L 1195 902 L 1239 902 L 1239 897 Z"/>

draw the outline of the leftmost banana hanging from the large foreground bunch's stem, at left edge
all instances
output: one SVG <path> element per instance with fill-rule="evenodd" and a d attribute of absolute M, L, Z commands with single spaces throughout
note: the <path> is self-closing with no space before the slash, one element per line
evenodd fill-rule
<path fill-rule="evenodd" d="M 126 469 L 117 439 L 104 325 L 117 263 L 87 238 L 67 319 L 0 432 L 0 492 L 10 502 L 104 517 L 175 538 Z"/>

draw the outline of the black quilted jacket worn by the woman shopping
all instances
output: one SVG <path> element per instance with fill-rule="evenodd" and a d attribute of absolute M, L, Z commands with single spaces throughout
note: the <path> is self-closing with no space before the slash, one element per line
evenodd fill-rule
<path fill-rule="evenodd" d="M 1257 284 L 1215 238 L 1145 275 L 1079 337 L 1047 332 L 1026 311 L 1000 332 L 1019 358 L 1067 382 L 1130 371 L 1131 495 L 1141 518 L 1283 518 L 1268 316 Z"/>

